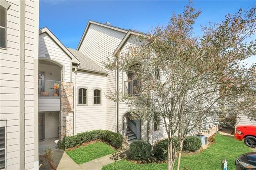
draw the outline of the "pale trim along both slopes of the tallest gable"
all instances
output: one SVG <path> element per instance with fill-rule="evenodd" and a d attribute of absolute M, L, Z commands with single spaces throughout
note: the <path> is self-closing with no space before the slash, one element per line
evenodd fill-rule
<path fill-rule="evenodd" d="M 84 33 L 83 33 L 82 38 L 81 38 L 81 40 L 80 40 L 80 42 L 78 44 L 77 50 L 79 50 L 80 46 L 82 45 L 82 42 L 84 41 L 84 37 L 86 36 L 86 33 L 88 32 L 88 29 L 89 29 L 91 24 L 96 24 L 98 26 L 102 26 L 102 27 L 109 28 L 109 29 L 112 29 L 112 30 L 120 31 L 120 32 L 123 32 L 123 33 L 127 33 L 128 32 L 128 30 L 123 29 L 123 28 L 118 28 L 118 27 L 115 27 L 115 26 L 111 26 L 111 25 L 107 25 L 107 24 L 102 24 L 102 23 L 99 23 L 99 22 L 95 22 L 95 21 L 89 20 L 87 25 L 86 25 L 86 28 L 84 29 Z"/>

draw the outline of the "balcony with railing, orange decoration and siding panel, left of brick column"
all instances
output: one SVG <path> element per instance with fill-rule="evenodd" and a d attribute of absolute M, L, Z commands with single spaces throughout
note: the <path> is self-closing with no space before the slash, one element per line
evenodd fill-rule
<path fill-rule="evenodd" d="M 60 111 L 60 81 L 38 80 L 38 111 Z"/>

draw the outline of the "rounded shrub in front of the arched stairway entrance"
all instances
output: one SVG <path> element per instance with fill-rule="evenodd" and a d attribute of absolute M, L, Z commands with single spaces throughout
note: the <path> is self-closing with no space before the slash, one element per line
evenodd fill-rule
<path fill-rule="evenodd" d="M 130 154 L 132 160 L 145 160 L 151 154 L 152 146 L 149 142 L 144 140 L 134 141 L 130 145 Z"/>

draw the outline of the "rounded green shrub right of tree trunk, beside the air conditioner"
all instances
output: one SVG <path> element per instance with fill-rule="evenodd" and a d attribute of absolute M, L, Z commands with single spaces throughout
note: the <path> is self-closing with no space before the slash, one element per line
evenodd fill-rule
<path fill-rule="evenodd" d="M 201 148 L 202 142 L 196 136 L 187 136 L 183 143 L 183 151 L 195 152 Z"/>

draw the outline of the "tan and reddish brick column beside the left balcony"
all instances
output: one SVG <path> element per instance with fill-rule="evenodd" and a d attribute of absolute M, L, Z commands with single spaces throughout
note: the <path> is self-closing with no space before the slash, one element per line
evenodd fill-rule
<path fill-rule="evenodd" d="M 61 82 L 60 93 L 61 93 L 61 106 L 60 106 L 60 139 L 65 136 L 72 136 L 74 134 L 73 129 L 73 83 Z"/>

